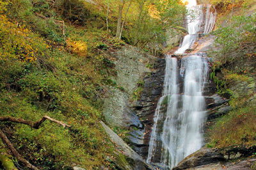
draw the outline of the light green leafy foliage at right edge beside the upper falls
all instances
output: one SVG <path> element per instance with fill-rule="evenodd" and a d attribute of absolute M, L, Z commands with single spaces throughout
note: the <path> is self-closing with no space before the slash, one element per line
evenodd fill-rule
<path fill-rule="evenodd" d="M 255 15 L 241 15 L 232 17 L 227 26 L 214 31 L 214 35 L 217 36 L 215 45 L 220 47 L 214 52 L 218 60 L 227 63 L 244 55 L 244 49 L 248 49 L 248 45 L 256 42 L 255 23 Z"/>

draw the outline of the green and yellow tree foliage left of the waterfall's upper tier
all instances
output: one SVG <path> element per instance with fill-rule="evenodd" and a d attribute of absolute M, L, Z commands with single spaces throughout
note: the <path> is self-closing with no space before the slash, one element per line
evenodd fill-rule
<path fill-rule="evenodd" d="M 137 11 L 129 36 L 132 44 L 145 47 L 163 42 L 165 29 L 179 25 L 186 8 L 179 1 L 139 1 Z"/>

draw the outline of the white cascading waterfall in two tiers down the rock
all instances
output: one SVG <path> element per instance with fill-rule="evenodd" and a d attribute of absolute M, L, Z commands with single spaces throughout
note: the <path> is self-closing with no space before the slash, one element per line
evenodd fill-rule
<path fill-rule="evenodd" d="M 192 4 L 196 4 L 196 1 Z M 188 15 L 189 35 L 184 37 L 175 54 L 184 54 L 200 31 L 209 33 L 214 26 L 216 12 L 211 12 L 211 6 L 207 6 L 205 16 L 202 13 L 203 5 L 188 5 L 187 8 L 195 14 Z M 150 164 L 172 169 L 204 143 L 203 93 L 207 84 L 208 63 L 203 55 L 194 54 L 180 60 L 166 55 L 163 97 L 157 103 L 148 148 L 147 162 Z"/>

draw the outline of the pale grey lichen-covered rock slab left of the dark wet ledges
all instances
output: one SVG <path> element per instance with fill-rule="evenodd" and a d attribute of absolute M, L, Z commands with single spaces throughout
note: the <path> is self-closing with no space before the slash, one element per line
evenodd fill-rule
<path fill-rule="evenodd" d="M 143 128 L 130 100 L 132 93 L 138 88 L 137 82 L 151 72 L 147 65 L 154 63 L 156 57 L 131 46 L 110 52 L 109 55 L 115 58 L 116 76 L 111 79 L 121 88 L 108 87 L 108 97 L 104 98 L 103 106 L 106 122 L 113 127 Z"/>

